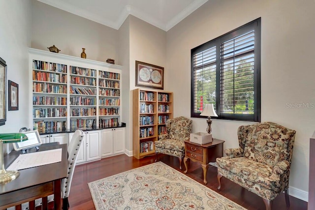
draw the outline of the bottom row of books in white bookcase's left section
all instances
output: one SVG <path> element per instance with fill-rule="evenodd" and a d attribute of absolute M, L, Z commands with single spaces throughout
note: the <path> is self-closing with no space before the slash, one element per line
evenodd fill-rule
<path fill-rule="evenodd" d="M 38 130 L 39 134 L 62 132 L 66 130 L 66 121 L 34 121 L 33 130 Z"/>

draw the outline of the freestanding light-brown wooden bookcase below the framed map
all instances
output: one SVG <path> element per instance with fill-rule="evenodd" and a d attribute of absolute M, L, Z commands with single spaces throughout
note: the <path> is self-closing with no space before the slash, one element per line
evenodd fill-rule
<path fill-rule="evenodd" d="M 173 93 L 133 90 L 133 156 L 155 154 L 154 141 L 166 133 L 165 123 L 173 118 Z"/>

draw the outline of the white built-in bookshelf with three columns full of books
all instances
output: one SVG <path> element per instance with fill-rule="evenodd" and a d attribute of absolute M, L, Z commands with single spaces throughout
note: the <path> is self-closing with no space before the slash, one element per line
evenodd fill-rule
<path fill-rule="evenodd" d="M 32 48 L 29 53 L 33 129 L 121 125 L 121 66 Z"/>

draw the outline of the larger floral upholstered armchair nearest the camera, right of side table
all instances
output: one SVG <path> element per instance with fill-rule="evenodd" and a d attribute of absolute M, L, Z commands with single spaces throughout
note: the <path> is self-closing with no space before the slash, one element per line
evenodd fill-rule
<path fill-rule="evenodd" d="M 221 177 L 241 185 L 263 198 L 266 209 L 284 191 L 289 206 L 289 174 L 295 131 L 272 122 L 238 128 L 239 148 L 226 149 L 217 158 L 218 181 Z"/>

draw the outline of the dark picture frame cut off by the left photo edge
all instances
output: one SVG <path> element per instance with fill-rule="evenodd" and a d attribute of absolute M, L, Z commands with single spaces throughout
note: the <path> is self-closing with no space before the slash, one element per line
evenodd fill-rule
<path fill-rule="evenodd" d="M 0 58 L 0 126 L 6 121 L 6 63 Z"/>

